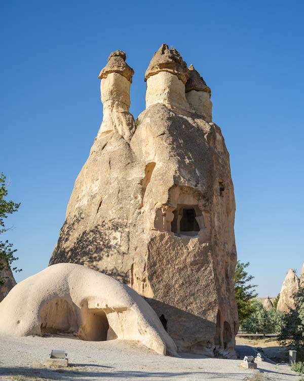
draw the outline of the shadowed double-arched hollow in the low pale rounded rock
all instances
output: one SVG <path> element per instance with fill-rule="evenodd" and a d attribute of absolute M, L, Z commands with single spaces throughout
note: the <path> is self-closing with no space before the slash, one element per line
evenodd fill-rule
<path fill-rule="evenodd" d="M 41 333 L 74 333 L 86 341 L 107 339 L 109 323 L 105 312 L 88 308 L 88 303 L 79 308 L 72 301 L 54 298 L 41 308 L 40 319 Z"/>

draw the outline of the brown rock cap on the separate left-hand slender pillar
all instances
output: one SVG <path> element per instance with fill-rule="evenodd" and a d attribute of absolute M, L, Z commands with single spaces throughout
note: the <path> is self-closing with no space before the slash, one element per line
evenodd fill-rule
<path fill-rule="evenodd" d="M 112 52 L 109 55 L 106 66 L 99 73 L 98 78 L 106 78 L 110 73 L 119 73 L 132 83 L 134 70 L 130 68 L 128 63 L 126 63 L 126 58 L 126 53 L 122 50 L 116 50 L 115 52 Z"/>

